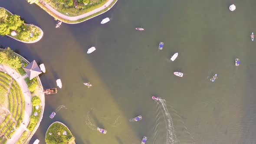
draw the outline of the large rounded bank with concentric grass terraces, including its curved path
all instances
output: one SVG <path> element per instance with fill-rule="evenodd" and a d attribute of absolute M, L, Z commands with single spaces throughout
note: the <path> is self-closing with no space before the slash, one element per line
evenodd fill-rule
<path fill-rule="evenodd" d="M 29 80 L 23 78 L 26 72 L 21 65 L 28 62 L 9 47 L 0 49 L 0 144 L 13 140 L 11 137 L 19 137 L 15 144 L 24 144 L 33 136 L 42 118 L 43 103 L 39 94 L 38 77 Z M 27 88 L 21 89 L 20 85 L 26 83 Z M 30 91 L 28 93 L 27 91 Z M 24 97 L 26 92 L 26 98 Z M 31 99 L 30 99 L 31 97 Z M 44 99 L 43 99 L 44 100 Z M 25 106 L 25 101 L 31 106 Z M 31 111 L 31 115 L 24 116 L 24 112 Z M 26 124 L 25 124 L 26 123 Z M 27 128 L 24 130 L 24 125 Z M 21 131 L 16 131 L 17 129 Z"/>

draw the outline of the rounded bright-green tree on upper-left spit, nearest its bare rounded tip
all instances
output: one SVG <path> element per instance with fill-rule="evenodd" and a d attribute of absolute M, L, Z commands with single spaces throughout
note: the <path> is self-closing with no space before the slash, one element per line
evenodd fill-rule
<path fill-rule="evenodd" d="M 24 22 L 20 20 L 20 16 L 13 15 L 7 17 L 7 25 L 10 30 L 16 30 L 18 27 L 20 27 Z"/>

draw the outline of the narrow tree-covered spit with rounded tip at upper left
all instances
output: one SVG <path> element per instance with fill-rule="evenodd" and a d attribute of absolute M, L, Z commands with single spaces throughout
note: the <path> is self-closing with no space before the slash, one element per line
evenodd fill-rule
<path fill-rule="evenodd" d="M 43 31 L 38 26 L 24 23 L 20 16 L 0 7 L 0 35 L 10 36 L 23 43 L 36 43 L 42 38 Z"/>

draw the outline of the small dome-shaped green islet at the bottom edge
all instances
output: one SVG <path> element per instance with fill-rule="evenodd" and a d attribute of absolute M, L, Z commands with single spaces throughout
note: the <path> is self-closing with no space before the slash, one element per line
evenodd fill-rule
<path fill-rule="evenodd" d="M 56 121 L 47 129 L 45 141 L 46 144 L 75 144 L 75 137 L 65 124 Z"/>

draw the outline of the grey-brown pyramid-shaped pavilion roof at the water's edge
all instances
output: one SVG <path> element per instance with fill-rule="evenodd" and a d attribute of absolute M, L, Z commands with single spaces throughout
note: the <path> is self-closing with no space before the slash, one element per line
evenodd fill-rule
<path fill-rule="evenodd" d="M 33 60 L 33 62 L 30 62 L 30 64 L 28 64 L 27 66 L 23 67 L 23 69 L 30 78 L 30 80 L 42 73 L 35 60 Z"/>

